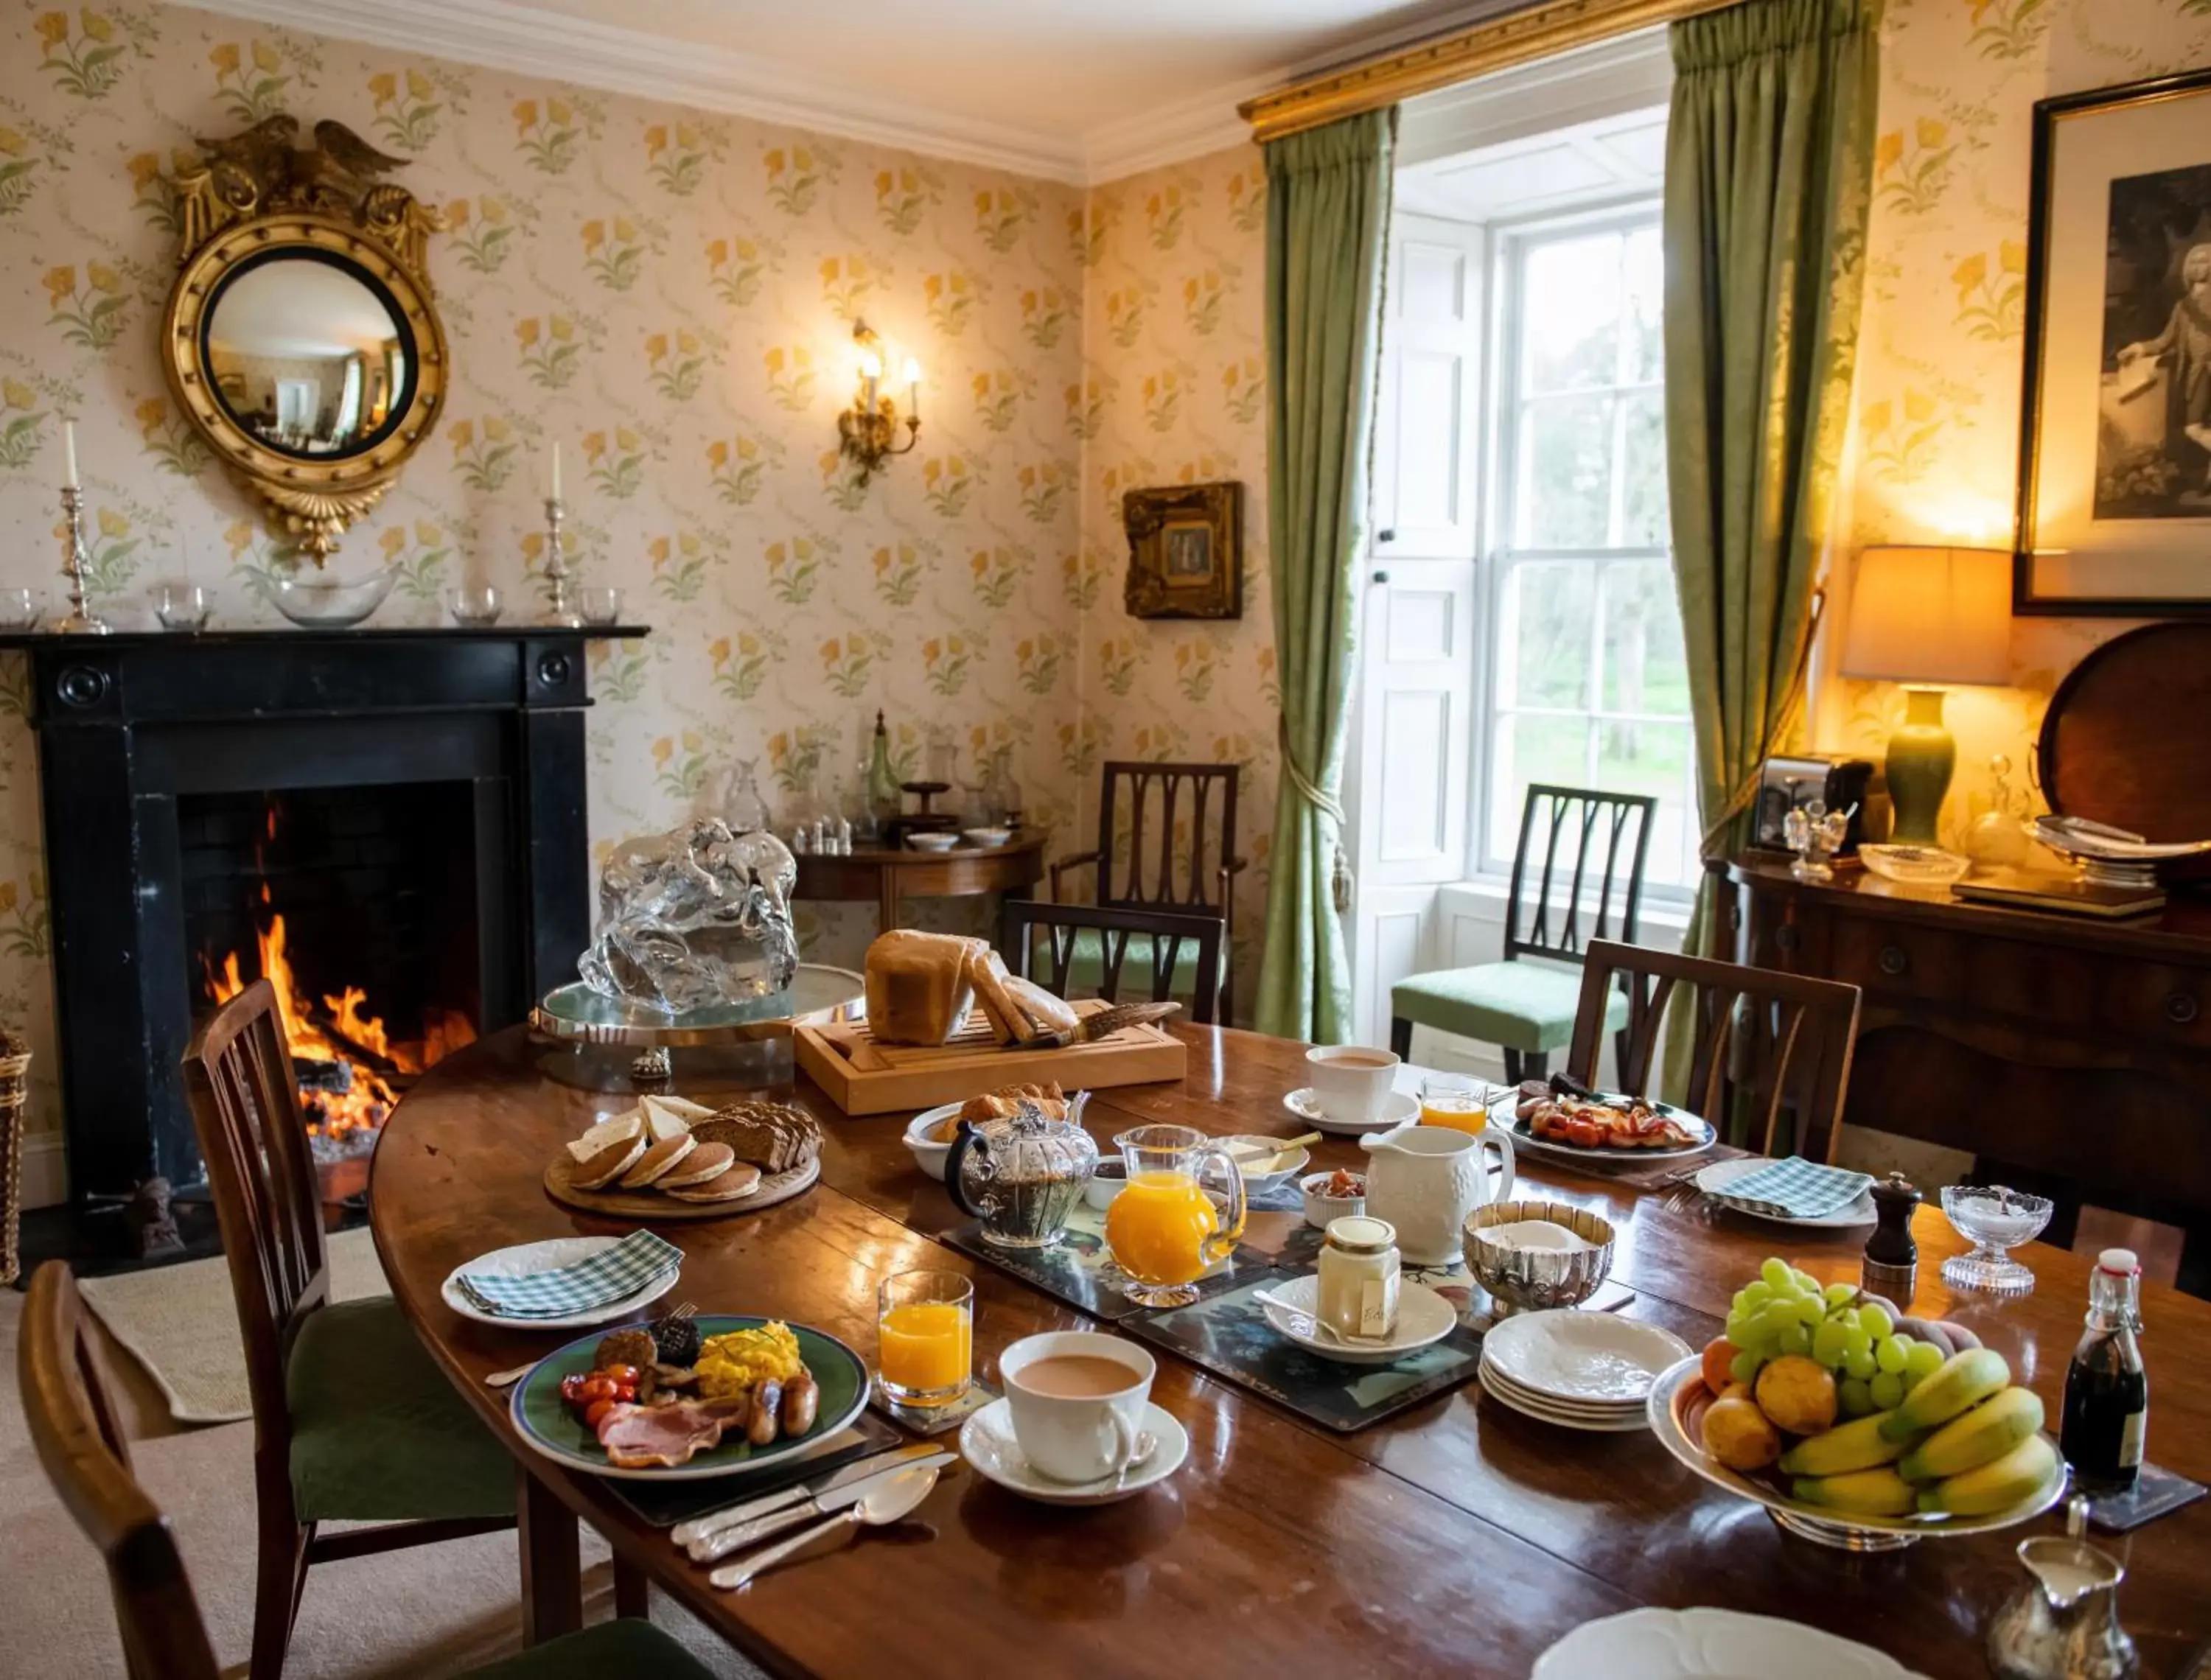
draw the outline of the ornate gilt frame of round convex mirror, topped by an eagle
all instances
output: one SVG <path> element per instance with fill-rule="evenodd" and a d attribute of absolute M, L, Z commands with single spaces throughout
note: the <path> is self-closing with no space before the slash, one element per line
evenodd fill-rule
<path fill-rule="evenodd" d="M 378 179 L 402 159 L 385 157 L 343 124 L 316 124 L 312 148 L 294 146 L 296 133 L 296 119 L 270 117 L 243 135 L 201 141 L 201 164 L 177 175 L 181 239 L 161 312 L 161 374 L 214 458 L 321 566 L 433 433 L 451 365 L 427 265 L 438 212 Z M 358 387 L 347 387 L 356 391 L 352 447 L 321 438 L 294 444 L 274 424 L 248 424 L 234 376 L 212 363 L 217 305 L 272 263 L 334 270 L 332 285 L 354 287 L 383 312 L 394 345 L 378 369 L 385 407 L 363 418 Z M 371 367 L 367 351 L 354 360 Z"/>

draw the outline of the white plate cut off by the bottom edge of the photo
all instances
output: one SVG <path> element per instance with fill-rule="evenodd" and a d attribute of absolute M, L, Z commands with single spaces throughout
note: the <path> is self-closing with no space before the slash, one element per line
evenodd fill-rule
<path fill-rule="evenodd" d="M 1630 1609 L 1583 1623 L 1530 1680 L 1921 1680 L 1873 1647 L 1736 1609 Z"/>

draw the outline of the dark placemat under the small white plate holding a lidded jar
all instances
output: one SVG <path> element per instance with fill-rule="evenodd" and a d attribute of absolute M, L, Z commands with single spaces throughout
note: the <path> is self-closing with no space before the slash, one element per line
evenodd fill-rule
<path fill-rule="evenodd" d="M 1481 1366 L 1481 1333 L 1464 1322 L 1442 1342 L 1386 1366 L 1340 1364 L 1307 1353 L 1282 1340 L 1267 1322 L 1267 1311 L 1251 1300 L 1258 1289 L 1289 1275 L 1293 1273 L 1269 1269 L 1265 1278 L 1238 1282 L 1192 1306 L 1132 1317 L 1123 1329 L 1338 1435 L 1369 1428 L 1457 1388 Z"/>

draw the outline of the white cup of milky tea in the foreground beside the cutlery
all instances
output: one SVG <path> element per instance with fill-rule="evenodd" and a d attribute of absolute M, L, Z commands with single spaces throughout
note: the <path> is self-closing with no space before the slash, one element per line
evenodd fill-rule
<path fill-rule="evenodd" d="M 1119 1335 L 1021 1337 L 997 1359 L 1021 1457 L 1052 1481 L 1099 1481 L 1128 1470 L 1156 1368 L 1150 1353 Z"/>

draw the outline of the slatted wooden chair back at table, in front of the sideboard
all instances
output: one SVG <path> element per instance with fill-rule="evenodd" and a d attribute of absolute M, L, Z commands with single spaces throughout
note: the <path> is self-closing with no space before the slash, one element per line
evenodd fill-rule
<path fill-rule="evenodd" d="M 1694 1010 L 1687 1107 L 1722 1134 L 1749 1119 L 1749 1141 L 1773 1154 L 1782 1116 L 1786 1145 L 1806 1161 L 1833 1161 L 1842 1145 L 1842 1099 L 1857 1046 L 1857 986 L 1837 979 L 1742 968 L 1596 939 L 1583 953 L 1581 1012 L 1568 1072 L 1596 1083 L 1607 1017 L 1627 995 L 1618 1088 L 1647 1096 L 1665 1052 L 1667 1004 Z"/>

